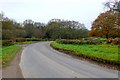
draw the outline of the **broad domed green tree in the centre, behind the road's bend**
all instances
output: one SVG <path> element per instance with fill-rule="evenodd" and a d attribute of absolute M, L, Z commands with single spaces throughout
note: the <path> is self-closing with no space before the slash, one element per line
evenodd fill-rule
<path fill-rule="evenodd" d="M 79 39 L 87 37 L 87 32 L 84 24 L 77 21 L 52 19 L 46 26 L 46 37 L 51 39 Z"/>

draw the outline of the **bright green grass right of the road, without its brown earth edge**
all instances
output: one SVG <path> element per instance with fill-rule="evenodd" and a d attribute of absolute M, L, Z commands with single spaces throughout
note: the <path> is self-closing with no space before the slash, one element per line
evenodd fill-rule
<path fill-rule="evenodd" d="M 95 57 L 107 61 L 118 62 L 118 46 L 112 44 L 97 45 L 78 45 L 78 44 L 60 44 L 52 42 L 51 46 L 56 49 L 71 51 L 74 54 L 82 54 L 88 57 Z"/>

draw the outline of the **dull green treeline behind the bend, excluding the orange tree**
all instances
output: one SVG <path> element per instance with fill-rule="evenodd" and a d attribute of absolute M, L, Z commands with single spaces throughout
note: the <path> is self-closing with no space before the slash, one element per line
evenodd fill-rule
<path fill-rule="evenodd" d="M 88 37 L 88 30 L 77 21 L 52 19 L 47 24 L 31 19 L 18 23 L 8 17 L 2 19 L 2 39 L 42 38 L 42 39 L 79 39 Z"/>

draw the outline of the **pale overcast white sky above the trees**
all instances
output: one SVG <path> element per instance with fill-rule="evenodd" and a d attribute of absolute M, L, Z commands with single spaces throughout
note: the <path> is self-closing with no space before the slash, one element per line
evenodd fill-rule
<path fill-rule="evenodd" d="M 0 0 L 0 12 L 22 23 L 26 19 L 47 23 L 53 18 L 74 20 L 90 29 L 108 0 Z"/>

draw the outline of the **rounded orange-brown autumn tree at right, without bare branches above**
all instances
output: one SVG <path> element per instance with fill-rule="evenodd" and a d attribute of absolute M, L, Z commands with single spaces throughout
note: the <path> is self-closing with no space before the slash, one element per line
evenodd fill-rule
<path fill-rule="evenodd" d="M 118 37 L 118 31 L 120 30 L 118 23 L 120 17 L 113 11 L 107 11 L 101 13 L 98 18 L 92 23 L 90 36 L 102 36 L 102 37 Z"/>

